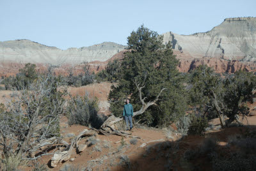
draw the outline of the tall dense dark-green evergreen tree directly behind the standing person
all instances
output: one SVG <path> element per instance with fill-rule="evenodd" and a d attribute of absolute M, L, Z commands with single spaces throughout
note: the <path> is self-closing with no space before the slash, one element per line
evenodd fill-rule
<path fill-rule="evenodd" d="M 143 115 L 136 117 L 148 125 L 164 126 L 184 115 L 184 78 L 177 70 L 179 61 L 170 42 L 163 45 L 163 36 L 144 26 L 132 31 L 127 40 L 128 51 L 118 71 L 120 83 L 109 93 L 111 112 L 121 116 L 124 100 L 131 96 L 134 111 L 140 110 L 142 101 L 157 98 Z"/>

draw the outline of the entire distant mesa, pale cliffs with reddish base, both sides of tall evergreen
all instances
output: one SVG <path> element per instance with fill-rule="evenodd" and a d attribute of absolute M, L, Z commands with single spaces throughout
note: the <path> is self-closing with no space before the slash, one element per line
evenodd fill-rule
<path fill-rule="evenodd" d="M 180 71 L 189 71 L 198 64 L 207 64 L 218 72 L 244 68 L 256 71 L 255 17 L 228 18 L 205 33 L 180 35 L 168 32 L 163 34 L 163 39 L 164 43 L 172 42 L 173 52 L 180 59 Z M 0 41 L 0 71 L 10 69 L 3 68 L 7 63 L 7 66 L 13 66 L 13 63 L 74 66 L 84 61 L 102 70 L 109 60 L 122 58 L 123 50 L 124 45 L 113 42 L 61 50 L 30 40 Z"/>

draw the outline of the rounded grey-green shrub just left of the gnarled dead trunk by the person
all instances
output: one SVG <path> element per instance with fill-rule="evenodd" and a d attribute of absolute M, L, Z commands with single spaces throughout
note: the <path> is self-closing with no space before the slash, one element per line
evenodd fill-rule
<path fill-rule="evenodd" d="M 105 115 L 98 114 L 97 99 L 90 99 L 88 96 L 76 96 L 67 105 L 68 124 L 81 124 L 100 128 L 106 120 Z"/>

